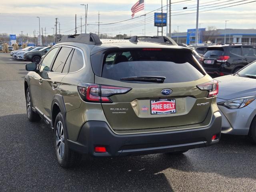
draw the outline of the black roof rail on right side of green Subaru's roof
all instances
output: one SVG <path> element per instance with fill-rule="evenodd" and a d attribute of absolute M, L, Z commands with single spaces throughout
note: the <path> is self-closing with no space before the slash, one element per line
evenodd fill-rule
<path fill-rule="evenodd" d="M 132 36 L 129 38 L 130 42 L 138 42 L 138 40 L 141 41 L 148 41 L 148 42 L 158 42 L 158 43 L 167 43 L 172 45 L 177 45 L 177 43 L 168 36 Z"/>

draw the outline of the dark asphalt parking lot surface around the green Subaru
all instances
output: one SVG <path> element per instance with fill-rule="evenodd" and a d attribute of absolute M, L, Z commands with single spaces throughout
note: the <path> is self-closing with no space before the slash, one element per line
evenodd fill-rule
<path fill-rule="evenodd" d="M 245 136 L 183 155 L 84 157 L 58 166 L 53 133 L 27 120 L 25 64 L 0 53 L 0 192 L 2 191 L 256 191 L 256 145 Z"/>

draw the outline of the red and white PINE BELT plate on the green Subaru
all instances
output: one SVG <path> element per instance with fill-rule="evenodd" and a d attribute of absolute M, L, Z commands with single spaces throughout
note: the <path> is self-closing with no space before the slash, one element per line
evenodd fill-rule
<path fill-rule="evenodd" d="M 150 113 L 152 115 L 176 113 L 175 99 L 152 99 L 152 100 L 150 100 Z"/>

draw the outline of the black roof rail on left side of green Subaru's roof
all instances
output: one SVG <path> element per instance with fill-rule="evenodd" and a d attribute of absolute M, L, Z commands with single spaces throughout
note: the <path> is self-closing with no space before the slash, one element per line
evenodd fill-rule
<path fill-rule="evenodd" d="M 102 44 L 99 36 L 95 33 L 64 35 L 58 41 L 58 43 L 62 43 L 62 42 L 78 42 L 78 43 L 85 43 L 85 44 L 90 44 L 90 45 Z"/>

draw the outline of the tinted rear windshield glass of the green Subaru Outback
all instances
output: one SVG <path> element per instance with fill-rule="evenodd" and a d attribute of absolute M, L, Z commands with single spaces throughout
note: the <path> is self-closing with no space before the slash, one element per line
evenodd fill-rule
<path fill-rule="evenodd" d="M 174 83 L 197 80 L 204 76 L 204 71 L 195 61 L 192 52 L 187 50 L 146 48 L 105 54 L 102 77 L 120 81 L 121 78 L 134 76 L 164 76 L 164 83 Z"/>

